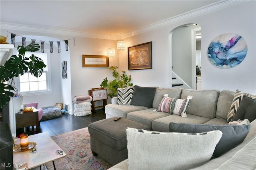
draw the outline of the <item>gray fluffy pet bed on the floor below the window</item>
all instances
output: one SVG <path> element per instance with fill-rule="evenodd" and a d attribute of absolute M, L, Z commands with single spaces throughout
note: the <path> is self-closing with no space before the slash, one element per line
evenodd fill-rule
<path fill-rule="evenodd" d="M 62 111 L 55 106 L 42 107 L 43 114 L 41 121 L 62 117 Z"/>

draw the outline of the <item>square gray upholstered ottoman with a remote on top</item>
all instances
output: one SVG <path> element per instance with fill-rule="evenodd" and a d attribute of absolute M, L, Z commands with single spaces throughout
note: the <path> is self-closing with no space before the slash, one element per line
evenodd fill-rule
<path fill-rule="evenodd" d="M 127 127 L 149 130 L 148 126 L 136 121 L 125 118 L 114 121 L 115 118 L 99 120 L 88 126 L 92 154 L 99 155 L 111 165 L 128 158 Z"/>

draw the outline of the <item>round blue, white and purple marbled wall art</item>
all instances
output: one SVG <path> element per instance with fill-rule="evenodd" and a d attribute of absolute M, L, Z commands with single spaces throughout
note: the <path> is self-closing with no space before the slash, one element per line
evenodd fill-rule
<path fill-rule="evenodd" d="M 208 47 L 210 63 L 219 68 L 240 64 L 247 54 L 247 43 L 236 33 L 224 33 L 214 38 Z"/>

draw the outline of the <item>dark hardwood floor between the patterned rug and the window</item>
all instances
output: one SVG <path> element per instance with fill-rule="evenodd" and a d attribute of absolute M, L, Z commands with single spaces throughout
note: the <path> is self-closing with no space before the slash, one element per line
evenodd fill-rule
<path fill-rule="evenodd" d="M 90 123 L 102 119 L 105 119 L 105 112 L 103 109 L 98 109 L 95 113 L 87 116 L 74 116 L 68 113 L 63 113 L 62 117 L 41 121 L 39 133 L 47 132 L 50 136 L 55 136 L 61 133 L 88 127 Z"/>

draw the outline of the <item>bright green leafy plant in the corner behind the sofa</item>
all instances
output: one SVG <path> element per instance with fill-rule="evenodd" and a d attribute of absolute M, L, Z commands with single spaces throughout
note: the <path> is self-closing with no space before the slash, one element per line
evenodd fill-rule
<path fill-rule="evenodd" d="M 132 86 L 133 84 L 131 83 L 132 76 L 127 75 L 125 71 L 122 71 L 122 74 L 120 74 L 117 69 L 118 66 L 110 66 L 108 69 L 112 70 L 112 76 L 113 80 L 109 81 L 107 77 L 105 77 L 101 84 L 100 87 L 107 88 L 109 93 L 108 96 L 113 98 L 114 96 L 117 96 L 117 89 L 118 88 L 124 88 L 128 86 Z"/>

